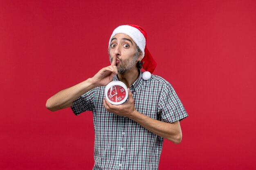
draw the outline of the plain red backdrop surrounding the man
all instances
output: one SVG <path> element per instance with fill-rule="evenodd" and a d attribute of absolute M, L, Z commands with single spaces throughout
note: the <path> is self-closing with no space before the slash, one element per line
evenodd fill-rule
<path fill-rule="evenodd" d="M 0 169 L 92 169 L 92 113 L 46 100 L 108 66 L 115 27 L 138 24 L 189 117 L 160 170 L 255 169 L 254 0 L 0 1 Z"/>

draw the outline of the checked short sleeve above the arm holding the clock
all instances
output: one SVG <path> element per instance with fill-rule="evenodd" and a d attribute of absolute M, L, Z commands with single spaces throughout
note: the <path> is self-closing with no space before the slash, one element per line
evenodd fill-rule
<path fill-rule="evenodd" d="M 171 84 L 164 85 L 158 107 L 159 116 L 164 122 L 181 121 L 188 116 Z"/>

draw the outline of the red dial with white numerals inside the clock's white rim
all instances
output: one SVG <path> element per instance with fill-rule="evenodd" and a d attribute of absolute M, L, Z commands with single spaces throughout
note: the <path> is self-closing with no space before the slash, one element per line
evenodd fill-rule
<path fill-rule="evenodd" d="M 122 86 L 112 86 L 108 90 L 108 98 L 112 102 L 120 102 L 124 99 L 124 96 L 126 95 L 126 92 Z"/>

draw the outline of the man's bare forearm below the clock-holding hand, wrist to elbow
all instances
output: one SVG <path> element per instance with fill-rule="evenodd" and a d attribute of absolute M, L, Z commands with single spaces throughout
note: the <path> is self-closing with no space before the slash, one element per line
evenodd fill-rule
<path fill-rule="evenodd" d="M 180 122 L 175 121 L 173 123 L 166 123 L 163 121 L 152 119 L 146 115 L 143 115 L 135 110 L 130 119 L 136 121 L 138 124 L 155 133 L 156 135 L 168 139 L 175 144 L 179 144 L 182 139 L 182 132 L 180 128 Z"/>

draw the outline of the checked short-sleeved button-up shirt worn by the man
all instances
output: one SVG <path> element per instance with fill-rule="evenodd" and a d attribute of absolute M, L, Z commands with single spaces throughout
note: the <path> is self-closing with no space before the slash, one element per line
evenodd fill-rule
<path fill-rule="evenodd" d="M 108 112 L 103 106 L 104 91 L 105 86 L 94 88 L 71 107 L 75 115 L 86 110 L 93 113 L 93 170 L 157 170 L 164 139 L 128 117 Z M 140 73 L 130 91 L 135 109 L 148 117 L 172 123 L 188 116 L 173 87 L 162 77 L 151 75 L 145 81 Z"/>

